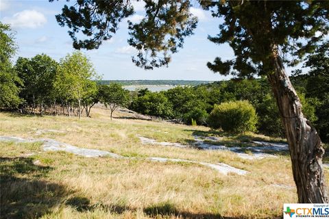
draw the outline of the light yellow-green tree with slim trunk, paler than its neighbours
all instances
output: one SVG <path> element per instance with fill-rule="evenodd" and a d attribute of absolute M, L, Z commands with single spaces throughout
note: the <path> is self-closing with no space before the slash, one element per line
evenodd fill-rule
<path fill-rule="evenodd" d="M 65 99 L 77 101 L 79 118 L 82 112 L 82 100 L 97 92 L 96 82 L 92 81 L 96 77 L 93 64 L 80 51 L 66 55 L 60 60 L 55 87 Z"/>

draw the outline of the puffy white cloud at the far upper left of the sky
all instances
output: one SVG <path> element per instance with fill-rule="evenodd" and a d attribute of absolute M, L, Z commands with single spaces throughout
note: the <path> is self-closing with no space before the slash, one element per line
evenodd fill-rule
<path fill-rule="evenodd" d="M 3 18 L 3 23 L 10 23 L 13 28 L 38 28 L 47 23 L 47 18 L 36 10 L 23 10 L 12 17 Z"/>

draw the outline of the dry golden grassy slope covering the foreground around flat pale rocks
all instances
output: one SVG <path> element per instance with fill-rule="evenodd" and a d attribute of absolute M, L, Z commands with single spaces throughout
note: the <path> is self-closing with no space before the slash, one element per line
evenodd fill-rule
<path fill-rule="evenodd" d="M 103 109 L 81 120 L 0 114 L 0 136 L 51 138 L 135 157 L 87 158 L 42 151 L 40 143 L 0 142 L 1 218 L 280 218 L 283 203 L 297 201 L 288 155 L 249 160 L 230 151 L 141 144 L 138 136 L 184 144 L 193 142 L 193 134 L 223 136 L 230 146 L 273 139 L 125 116 L 117 112 L 111 121 Z M 199 164 L 145 157 L 223 162 L 249 173 L 223 175 Z"/>

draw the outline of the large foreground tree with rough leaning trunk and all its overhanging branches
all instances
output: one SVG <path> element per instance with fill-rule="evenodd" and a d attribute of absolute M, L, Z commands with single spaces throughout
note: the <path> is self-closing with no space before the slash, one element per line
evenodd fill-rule
<path fill-rule="evenodd" d="M 97 48 L 115 33 L 121 18 L 133 13 L 131 1 L 103 1 L 108 8 L 98 2 L 77 1 L 75 7 L 66 6 L 57 16 L 60 25 L 71 28 L 69 33 L 77 48 Z M 217 44 L 230 44 L 235 55 L 234 60 L 227 61 L 217 57 L 208 67 L 236 77 L 267 76 L 289 142 L 298 201 L 327 203 L 321 165 L 324 149 L 317 131 L 302 113 L 302 104 L 284 63 L 296 64 L 322 43 L 329 30 L 329 1 L 199 0 L 199 3 L 211 10 L 212 16 L 221 18 L 219 34 L 209 39 Z M 111 7 L 112 4 L 118 6 Z M 137 66 L 151 69 L 169 63 L 171 53 L 182 47 L 184 38 L 193 34 L 196 27 L 197 19 L 189 11 L 191 6 L 189 0 L 145 0 L 145 18 L 137 24 L 129 23 L 128 42 L 138 49 L 132 60 Z M 75 43 L 79 31 L 92 43 Z"/>

